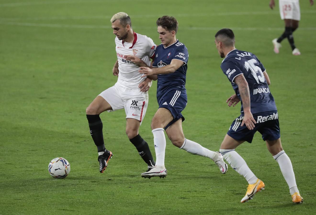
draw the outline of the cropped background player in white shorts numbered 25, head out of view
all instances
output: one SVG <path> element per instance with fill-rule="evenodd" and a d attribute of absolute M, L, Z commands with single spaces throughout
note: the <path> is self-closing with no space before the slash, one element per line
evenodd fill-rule
<path fill-rule="evenodd" d="M 314 4 L 313 0 L 309 0 L 311 6 Z M 274 0 L 270 1 L 270 8 L 275 7 Z M 288 38 L 288 41 L 292 48 L 293 55 L 301 55 L 299 49 L 294 44 L 293 32 L 298 28 L 298 23 L 301 19 L 300 3 L 299 0 L 279 0 L 280 16 L 284 20 L 285 31 L 279 38 L 272 40 L 274 46 L 274 52 L 279 54 L 281 48 L 281 41 Z"/>

